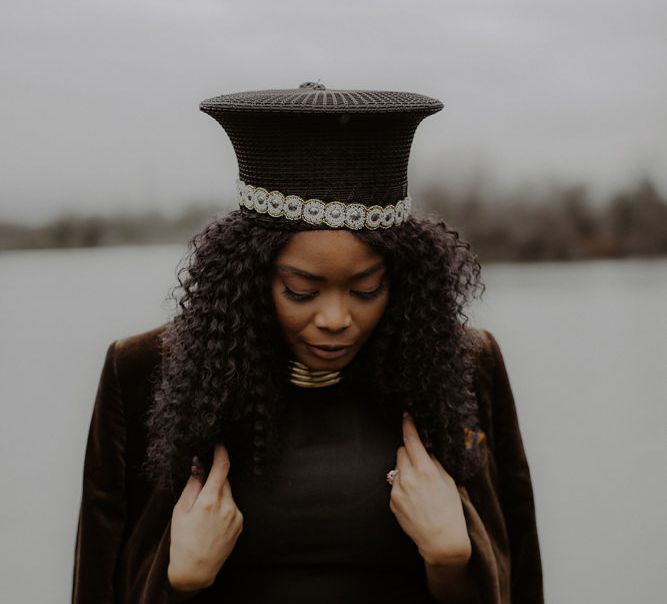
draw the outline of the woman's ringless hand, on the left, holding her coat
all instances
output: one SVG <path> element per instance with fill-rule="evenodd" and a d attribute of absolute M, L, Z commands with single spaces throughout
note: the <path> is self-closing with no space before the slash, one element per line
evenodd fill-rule
<path fill-rule="evenodd" d="M 183 488 L 171 517 L 169 583 L 177 591 L 210 586 L 243 529 L 243 515 L 227 480 L 229 455 L 216 445 L 206 483 L 194 474 Z"/>

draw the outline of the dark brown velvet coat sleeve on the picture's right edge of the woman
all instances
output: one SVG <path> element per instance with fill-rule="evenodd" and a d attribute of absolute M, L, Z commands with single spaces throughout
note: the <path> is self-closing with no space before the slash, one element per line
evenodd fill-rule
<path fill-rule="evenodd" d="M 492 361 L 489 436 L 509 543 L 510 602 L 541 604 L 542 564 L 530 469 L 503 355 L 494 336 L 484 333 Z"/>

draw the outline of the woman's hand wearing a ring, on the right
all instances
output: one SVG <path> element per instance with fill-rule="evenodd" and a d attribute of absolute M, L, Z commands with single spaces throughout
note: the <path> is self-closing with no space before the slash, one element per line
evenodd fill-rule
<path fill-rule="evenodd" d="M 458 488 L 428 454 L 409 415 L 403 417 L 403 443 L 396 453 L 398 475 L 389 508 L 427 563 L 466 564 L 472 546 Z"/>

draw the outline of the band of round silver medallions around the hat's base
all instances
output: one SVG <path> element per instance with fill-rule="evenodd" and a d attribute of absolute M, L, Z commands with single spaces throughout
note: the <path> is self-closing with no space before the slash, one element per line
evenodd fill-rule
<path fill-rule="evenodd" d="M 239 206 L 274 218 L 284 216 L 289 220 L 304 220 L 310 224 L 326 224 L 332 228 L 347 227 L 388 229 L 405 222 L 412 210 L 410 195 L 393 205 L 365 206 L 362 203 L 324 202 L 321 199 L 303 199 L 298 195 L 284 195 L 280 191 L 268 191 L 236 181 Z"/>

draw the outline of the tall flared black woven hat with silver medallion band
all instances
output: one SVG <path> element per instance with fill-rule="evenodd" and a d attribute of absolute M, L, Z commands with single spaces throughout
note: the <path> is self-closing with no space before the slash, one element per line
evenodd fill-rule
<path fill-rule="evenodd" d="M 415 130 L 443 104 L 412 92 L 253 90 L 202 101 L 229 136 L 241 211 L 268 227 L 377 229 L 409 216 Z"/>

